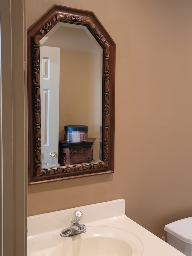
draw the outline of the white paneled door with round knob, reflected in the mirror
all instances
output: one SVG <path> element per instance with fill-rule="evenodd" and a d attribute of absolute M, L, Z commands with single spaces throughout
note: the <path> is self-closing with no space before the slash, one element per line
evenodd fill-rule
<path fill-rule="evenodd" d="M 41 84 L 41 164 L 58 164 L 60 48 L 40 47 Z"/>

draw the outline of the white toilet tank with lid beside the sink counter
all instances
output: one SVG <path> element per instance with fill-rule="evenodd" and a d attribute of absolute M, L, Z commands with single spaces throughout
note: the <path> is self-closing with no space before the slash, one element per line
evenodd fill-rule
<path fill-rule="evenodd" d="M 192 217 L 165 226 L 167 242 L 187 256 L 192 256 Z"/>

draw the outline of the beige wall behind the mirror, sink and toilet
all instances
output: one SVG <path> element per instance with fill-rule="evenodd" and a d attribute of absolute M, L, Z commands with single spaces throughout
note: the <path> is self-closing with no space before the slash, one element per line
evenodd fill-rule
<path fill-rule="evenodd" d="M 192 216 L 192 2 L 27 0 L 27 27 L 53 3 L 93 11 L 116 42 L 115 173 L 28 187 L 28 214 L 125 198 L 158 236 Z"/>

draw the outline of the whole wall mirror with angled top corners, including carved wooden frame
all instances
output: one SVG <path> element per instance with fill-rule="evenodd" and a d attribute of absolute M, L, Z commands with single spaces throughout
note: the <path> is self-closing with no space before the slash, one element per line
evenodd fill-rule
<path fill-rule="evenodd" d="M 29 185 L 114 172 L 115 43 L 53 5 L 27 30 Z"/>

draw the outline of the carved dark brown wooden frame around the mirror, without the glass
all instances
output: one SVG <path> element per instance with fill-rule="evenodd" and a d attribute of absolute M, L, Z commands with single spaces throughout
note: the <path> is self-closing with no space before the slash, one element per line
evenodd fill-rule
<path fill-rule="evenodd" d="M 39 41 L 58 22 L 87 26 L 103 48 L 103 159 L 96 163 L 42 169 Z M 114 41 L 91 11 L 53 5 L 27 30 L 29 185 L 114 172 L 115 49 Z"/>

